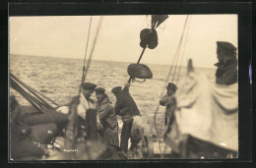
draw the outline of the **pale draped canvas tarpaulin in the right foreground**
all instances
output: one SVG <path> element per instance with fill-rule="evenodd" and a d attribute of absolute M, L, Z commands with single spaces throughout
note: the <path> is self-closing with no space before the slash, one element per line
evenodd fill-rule
<path fill-rule="evenodd" d="M 238 150 L 238 85 L 211 84 L 204 74 L 190 72 L 180 81 L 177 109 L 165 141 L 181 152 L 187 136 Z"/>

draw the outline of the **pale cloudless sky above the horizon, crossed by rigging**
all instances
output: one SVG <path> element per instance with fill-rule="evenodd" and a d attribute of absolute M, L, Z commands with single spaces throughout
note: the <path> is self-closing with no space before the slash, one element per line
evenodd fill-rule
<path fill-rule="evenodd" d="M 146 49 L 142 64 L 171 65 L 187 15 L 168 15 L 157 28 L 159 45 Z M 9 53 L 84 59 L 91 16 L 10 17 Z M 93 48 L 99 16 L 92 18 L 87 58 Z M 150 28 L 150 16 L 103 16 L 93 60 L 136 63 L 142 48 L 140 31 Z M 195 67 L 214 68 L 217 41 L 237 46 L 237 15 L 189 15 L 179 59 L 192 58 Z"/>

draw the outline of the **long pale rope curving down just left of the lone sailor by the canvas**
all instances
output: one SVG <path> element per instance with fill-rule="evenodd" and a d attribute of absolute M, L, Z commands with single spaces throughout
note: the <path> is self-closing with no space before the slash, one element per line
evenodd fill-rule
<path fill-rule="evenodd" d="M 161 91 L 161 93 L 160 93 L 160 98 L 163 96 L 163 92 L 164 92 L 164 90 L 165 90 L 165 85 L 166 85 L 166 84 L 168 83 L 168 81 L 169 81 L 169 77 L 170 77 L 170 74 L 171 74 L 171 72 L 172 72 L 173 65 L 174 65 L 175 62 L 177 62 L 176 59 L 177 59 L 177 57 L 178 57 L 178 55 L 179 55 L 179 53 L 180 53 L 181 43 L 182 43 L 182 40 L 183 40 L 184 30 L 185 30 L 186 25 L 187 25 L 187 20 L 188 20 L 188 16 L 186 17 L 185 24 L 184 24 L 184 26 L 183 26 L 183 31 L 182 31 L 182 34 L 181 34 L 181 37 L 180 37 L 180 40 L 179 40 L 179 43 L 178 43 L 177 50 L 176 50 L 175 55 L 174 55 L 173 62 L 172 62 L 172 64 L 171 64 L 171 66 L 170 66 L 170 69 L 169 69 L 167 78 L 166 78 L 166 80 L 165 80 L 165 82 L 164 82 L 162 91 Z M 174 76 L 174 74 L 173 74 L 173 76 Z M 172 77 L 172 79 L 173 79 L 173 77 Z M 157 109 L 156 109 L 155 115 L 154 115 L 154 124 L 155 124 L 155 129 L 156 129 L 156 132 L 157 132 L 157 134 L 158 134 L 158 137 L 160 137 L 160 132 L 158 131 L 158 126 L 157 126 L 157 115 L 158 115 L 159 108 L 160 108 L 160 103 L 158 102 Z M 159 148 L 160 148 L 160 156 L 161 156 L 161 158 L 163 158 L 163 154 L 161 153 L 160 143 L 159 143 Z M 165 148 L 165 147 L 164 147 L 164 148 Z M 165 149 L 164 149 L 164 150 L 165 150 Z M 165 151 L 164 151 L 164 152 L 165 152 Z"/>

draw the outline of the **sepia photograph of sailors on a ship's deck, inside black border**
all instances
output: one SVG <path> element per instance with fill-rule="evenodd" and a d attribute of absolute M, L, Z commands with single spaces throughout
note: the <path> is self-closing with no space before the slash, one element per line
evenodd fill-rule
<path fill-rule="evenodd" d="M 238 158 L 237 15 L 9 17 L 9 158 Z"/>

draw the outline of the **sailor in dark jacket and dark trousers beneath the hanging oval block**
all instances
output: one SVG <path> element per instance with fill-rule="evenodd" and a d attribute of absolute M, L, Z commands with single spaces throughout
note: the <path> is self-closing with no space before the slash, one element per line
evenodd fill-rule
<path fill-rule="evenodd" d="M 116 104 L 114 107 L 116 115 L 122 117 L 123 128 L 121 133 L 121 149 L 127 153 L 128 140 L 131 138 L 131 129 L 133 125 L 133 117 L 141 116 L 133 97 L 129 93 L 130 82 L 125 84 L 122 89 L 121 86 L 113 87 L 111 92 L 116 96 Z M 131 149 L 136 147 L 138 141 L 131 139 Z"/>

